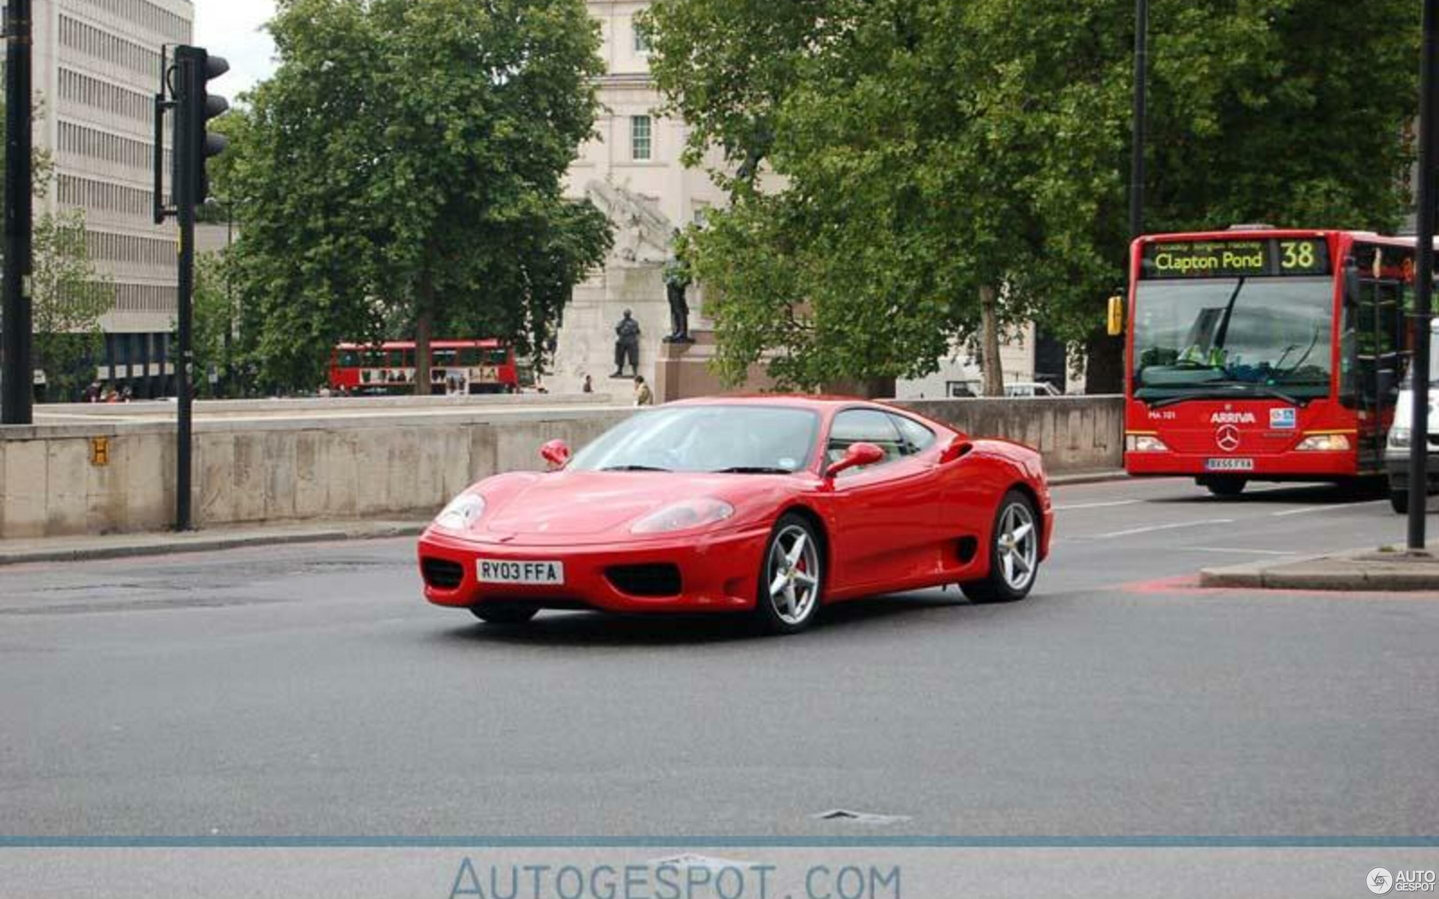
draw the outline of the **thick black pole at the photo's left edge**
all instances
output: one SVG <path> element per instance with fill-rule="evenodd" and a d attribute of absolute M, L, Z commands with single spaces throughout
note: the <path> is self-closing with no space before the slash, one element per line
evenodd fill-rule
<path fill-rule="evenodd" d="M 30 364 L 30 265 L 35 194 L 30 193 L 30 0 L 6 7 L 6 167 L 4 167 L 4 311 L 0 315 L 0 424 L 30 424 L 35 419 Z"/>

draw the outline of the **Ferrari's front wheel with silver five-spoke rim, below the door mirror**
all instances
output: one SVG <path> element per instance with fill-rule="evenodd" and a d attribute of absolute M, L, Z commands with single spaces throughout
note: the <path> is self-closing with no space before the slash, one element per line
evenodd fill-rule
<path fill-rule="evenodd" d="M 819 614 L 825 593 L 825 547 L 803 515 L 781 515 L 760 558 L 754 616 L 773 634 L 793 634 Z"/>

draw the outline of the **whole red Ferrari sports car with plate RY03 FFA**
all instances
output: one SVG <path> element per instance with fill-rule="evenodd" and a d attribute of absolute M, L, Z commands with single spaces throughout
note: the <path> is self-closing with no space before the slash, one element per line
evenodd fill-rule
<path fill-rule="evenodd" d="M 1039 453 L 862 400 L 671 403 L 541 456 L 553 470 L 481 480 L 425 531 L 430 603 L 507 624 L 748 611 L 790 633 L 889 591 L 1023 598 L 1053 531 Z"/>

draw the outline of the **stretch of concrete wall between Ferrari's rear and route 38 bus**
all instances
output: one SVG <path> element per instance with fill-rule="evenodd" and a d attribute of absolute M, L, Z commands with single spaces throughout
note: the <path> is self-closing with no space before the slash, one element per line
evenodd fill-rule
<path fill-rule="evenodd" d="M 1049 473 L 1124 467 L 1124 397 L 1016 397 L 898 403 L 973 437 L 1033 446 Z"/>

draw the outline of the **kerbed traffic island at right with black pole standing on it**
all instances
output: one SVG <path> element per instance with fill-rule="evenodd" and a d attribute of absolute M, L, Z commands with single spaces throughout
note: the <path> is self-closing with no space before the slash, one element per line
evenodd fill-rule
<path fill-rule="evenodd" d="M 1439 548 L 1430 544 L 1432 549 Z M 1200 587 L 1252 590 L 1439 591 L 1439 555 L 1353 549 L 1308 558 L 1204 568 Z"/>

